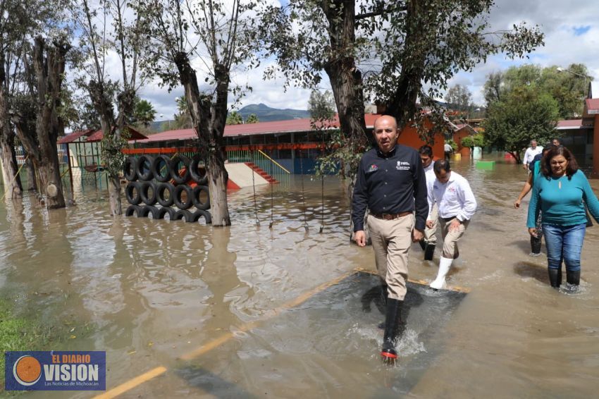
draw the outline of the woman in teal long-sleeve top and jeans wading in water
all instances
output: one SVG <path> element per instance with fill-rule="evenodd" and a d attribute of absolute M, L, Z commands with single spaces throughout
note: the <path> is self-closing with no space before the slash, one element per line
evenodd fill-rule
<path fill-rule="evenodd" d="M 551 286 L 559 288 L 562 283 L 562 259 L 567 282 L 578 286 L 586 232 L 583 201 L 599 222 L 599 200 L 566 147 L 553 147 L 541 162 L 541 176 L 537 176 L 533 185 L 526 226 L 535 237 L 535 221 L 541 211 Z"/>

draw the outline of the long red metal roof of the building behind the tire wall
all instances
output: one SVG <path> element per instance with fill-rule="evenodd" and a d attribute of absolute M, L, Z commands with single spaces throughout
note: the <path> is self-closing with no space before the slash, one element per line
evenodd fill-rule
<path fill-rule="evenodd" d="M 366 113 L 366 128 L 372 128 L 374 121 L 380 115 L 375 113 Z M 338 116 L 335 116 L 331 127 L 339 127 Z M 246 135 L 273 135 L 276 133 L 307 132 L 312 130 L 310 118 L 289 119 L 287 121 L 247 123 L 241 125 L 226 125 L 225 137 L 246 136 Z M 162 133 L 156 133 L 147 137 L 145 140 L 137 142 L 157 142 L 169 140 L 190 140 L 197 138 L 194 129 L 166 130 Z M 132 140 L 130 140 L 132 141 Z"/>

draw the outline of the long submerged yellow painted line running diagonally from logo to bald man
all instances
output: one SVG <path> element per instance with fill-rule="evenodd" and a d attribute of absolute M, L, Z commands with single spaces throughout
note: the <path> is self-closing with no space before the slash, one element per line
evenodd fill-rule
<path fill-rule="evenodd" d="M 335 284 L 340 283 L 345 278 L 352 276 L 353 274 L 356 274 L 359 271 L 363 271 L 363 270 L 354 269 L 353 271 L 342 274 L 338 278 L 334 278 L 333 280 L 323 283 L 320 286 L 317 286 L 316 288 L 312 288 L 311 290 L 307 291 L 307 293 L 303 293 L 299 297 L 296 297 L 295 299 L 290 300 L 289 302 L 286 302 L 285 304 L 281 305 L 280 307 L 275 308 L 273 310 L 273 312 L 271 312 L 269 317 L 266 317 L 265 319 L 262 319 L 261 321 L 266 321 L 268 319 L 272 319 L 276 315 L 280 314 L 280 312 L 283 312 L 283 310 L 291 309 L 292 307 L 301 305 L 303 302 L 309 300 L 309 298 L 312 297 L 313 295 L 316 295 L 317 293 L 320 293 L 321 291 L 326 290 L 326 288 L 335 286 Z M 251 329 L 254 329 L 257 325 L 258 325 L 258 323 L 255 321 L 252 321 L 252 322 L 249 322 L 246 324 L 242 324 L 242 326 L 240 326 L 238 331 L 243 331 L 243 332 L 249 331 Z M 195 357 L 204 355 L 204 353 L 209 352 L 210 350 L 213 350 L 214 348 L 218 348 L 219 346 L 223 345 L 228 340 L 233 338 L 233 336 L 235 336 L 234 333 L 230 333 L 230 332 L 225 333 L 225 334 L 223 334 L 223 336 L 216 338 L 215 340 L 211 340 L 209 343 L 199 346 L 198 348 L 192 350 L 191 352 L 186 353 L 185 355 L 183 355 L 179 358 L 180 358 L 180 360 L 192 360 Z M 97 398 L 97 399 L 116 398 L 118 395 L 121 395 L 122 393 L 130 391 L 131 389 L 135 388 L 136 386 L 139 386 L 142 383 L 150 381 L 151 379 L 154 379 L 154 377 L 157 377 L 157 376 L 163 374 L 164 372 L 166 372 L 166 370 L 167 370 L 166 367 L 163 367 L 163 366 L 156 367 L 155 369 L 152 369 L 149 372 L 145 372 L 144 374 L 140 374 L 139 376 L 136 376 L 136 377 L 130 379 L 129 381 L 125 381 L 124 383 L 121 383 L 121 385 L 116 386 L 115 388 L 112 388 L 110 391 L 106 391 L 105 393 L 102 393 L 101 395 L 97 395 L 94 398 Z"/>

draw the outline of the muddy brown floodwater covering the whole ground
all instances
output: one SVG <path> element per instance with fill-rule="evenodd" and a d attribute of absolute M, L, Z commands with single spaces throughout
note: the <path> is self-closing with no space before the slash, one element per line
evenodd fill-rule
<path fill-rule="evenodd" d="M 270 186 L 257 188 L 255 208 L 252 188 L 229 193 L 230 228 L 113 220 L 92 189 L 56 211 L 2 203 L 0 297 L 69 326 L 55 349 L 106 351 L 106 388 L 121 386 L 110 392 L 122 398 L 596 397 L 599 226 L 586 232 L 579 292 L 558 292 L 544 245 L 529 257 L 529 197 L 512 207 L 526 172 L 467 159 L 454 169 L 479 204 L 448 278 L 468 293 L 411 285 L 395 367 L 379 360 L 376 277 L 355 272 L 374 269 L 373 252 L 350 245 L 345 185 L 333 176 L 323 233 L 321 182 L 304 180 L 304 207 L 299 176 L 273 187 L 272 230 Z M 435 278 L 439 254 L 426 262 L 412 245 L 409 277 Z"/>

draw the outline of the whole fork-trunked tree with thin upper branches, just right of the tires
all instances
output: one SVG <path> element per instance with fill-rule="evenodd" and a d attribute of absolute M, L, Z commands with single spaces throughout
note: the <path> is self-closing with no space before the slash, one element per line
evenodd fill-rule
<path fill-rule="evenodd" d="M 145 66 L 168 87 L 183 85 L 187 108 L 206 162 L 211 197 L 212 224 L 230 225 L 227 204 L 228 173 L 223 134 L 232 68 L 253 55 L 249 42 L 256 30 L 249 15 L 256 1 L 140 0 L 137 14 L 144 20 L 147 37 Z M 201 65 L 204 90 L 197 70 Z"/>

